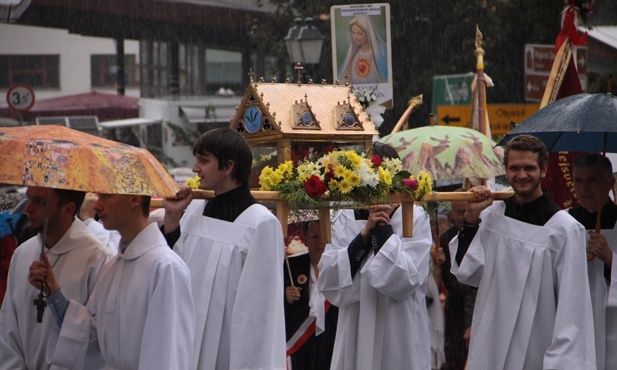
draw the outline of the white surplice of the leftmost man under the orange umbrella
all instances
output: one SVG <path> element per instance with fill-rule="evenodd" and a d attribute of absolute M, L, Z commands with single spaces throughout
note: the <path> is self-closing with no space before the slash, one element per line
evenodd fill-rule
<path fill-rule="evenodd" d="M 42 322 L 36 322 L 33 301 L 39 291 L 28 282 L 30 265 L 40 258 L 41 244 L 40 235 L 29 239 L 15 250 L 11 260 L 7 292 L 0 310 L 0 369 L 57 369 L 45 361 L 47 338 L 56 323 L 49 308 L 45 309 Z M 65 293 L 85 304 L 99 270 L 111 254 L 78 219 L 46 251 Z"/>

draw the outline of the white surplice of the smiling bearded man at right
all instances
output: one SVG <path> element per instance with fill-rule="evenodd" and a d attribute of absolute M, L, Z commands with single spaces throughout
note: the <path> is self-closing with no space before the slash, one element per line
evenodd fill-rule
<path fill-rule="evenodd" d="M 478 287 L 469 370 L 595 369 L 583 226 L 565 211 L 544 226 L 504 211 L 485 209 L 461 266 L 452 261 L 458 281 Z"/>

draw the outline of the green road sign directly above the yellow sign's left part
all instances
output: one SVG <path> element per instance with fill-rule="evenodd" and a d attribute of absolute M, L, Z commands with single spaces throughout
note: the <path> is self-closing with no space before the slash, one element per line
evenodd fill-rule
<path fill-rule="evenodd" d="M 433 112 L 440 105 L 471 104 L 473 73 L 433 77 Z"/>

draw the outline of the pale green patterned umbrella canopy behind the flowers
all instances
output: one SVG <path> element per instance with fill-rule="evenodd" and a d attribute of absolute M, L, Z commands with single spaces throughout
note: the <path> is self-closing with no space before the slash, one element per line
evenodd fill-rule
<path fill-rule="evenodd" d="M 505 174 L 503 149 L 486 135 L 465 127 L 425 126 L 383 137 L 412 174 L 425 171 L 435 180 L 487 179 Z"/>

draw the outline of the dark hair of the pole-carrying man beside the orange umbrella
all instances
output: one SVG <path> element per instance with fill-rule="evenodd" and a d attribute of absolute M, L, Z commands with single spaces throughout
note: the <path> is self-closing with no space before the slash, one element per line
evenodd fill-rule
<path fill-rule="evenodd" d="M 249 183 L 253 153 L 240 133 L 230 128 L 206 131 L 193 145 L 193 155 L 204 155 L 206 152 L 219 161 L 219 170 L 227 168 L 227 162 L 232 161 L 234 170 L 231 178 L 240 184 Z"/>

